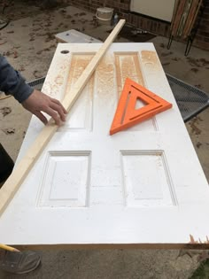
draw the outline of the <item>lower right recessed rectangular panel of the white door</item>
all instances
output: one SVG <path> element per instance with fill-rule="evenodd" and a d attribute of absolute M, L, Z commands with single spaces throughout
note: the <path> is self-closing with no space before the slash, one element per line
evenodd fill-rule
<path fill-rule="evenodd" d="M 121 156 L 127 206 L 174 205 L 174 189 L 162 151 L 122 151 Z"/>

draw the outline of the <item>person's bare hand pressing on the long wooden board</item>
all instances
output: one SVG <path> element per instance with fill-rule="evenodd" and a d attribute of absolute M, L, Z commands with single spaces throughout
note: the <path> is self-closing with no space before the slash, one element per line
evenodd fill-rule
<path fill-rule="evenodd" d="M 66 109 L 61 103 L 44 94 L 43 92 L 34 89 L 33 93 L 24 101 L 22 105 L 27 111 L 35 114 L 43 123 L 47 124 L 47 119 L 42 112 L 49 114 L 57 125 L 61 125 L 62 121 L 66 120 Z"/>

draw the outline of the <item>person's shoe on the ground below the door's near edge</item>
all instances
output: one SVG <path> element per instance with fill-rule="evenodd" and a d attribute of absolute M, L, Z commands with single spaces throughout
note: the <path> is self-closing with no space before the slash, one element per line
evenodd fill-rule
<path fill-rule="evenodd" d="M 0 251 L 0 269 L 12 274 L 23 275 L 40 265 L 41 257 L 37 252 Z"/>

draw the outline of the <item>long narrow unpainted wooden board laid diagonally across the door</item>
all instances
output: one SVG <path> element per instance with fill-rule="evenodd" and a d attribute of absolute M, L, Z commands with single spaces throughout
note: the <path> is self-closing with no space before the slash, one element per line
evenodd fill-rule
<path fill-rule="evenodd" d="M 76 99 L 80 96 L 81 90 L 85 87 L 91 74 L 96 70 L 97 65 L 101 58 L 103 58 L 104 53 L 111 45 L 112 41 L 119 34 L 120 29 L 125 24 L 125 19 L 120 19 L 119 23 L 112 30 L 112 33 L 107 37 L 106 41 L 103 43 L 101 48 L 98 50 L 94 58 L 91 59 L 89 65 L 81 74 L 80 78 L 74 84 L 74 88 L 66 94 L 66 97 L 63 100 L 63 105 L 66 108 L 66 111 L 69 112 L 71 107 L 74 105 Z M 49 143 L 50 138 L 57 131 L 58 126 L 54 124 L 54 121 L 50 119 L 49 123 L 43 128 L 39 136 L 35 139 L 35 142 L 28 149 L 26 155 L 23 159 L 19 161 L 18 166 L 16 166 L 4 183 L 4 186 L 0 190 L 0 215 L 4 213 L 6 206 L 10 203 L 14 197 L 17 190 L 19 190 L 20 185 L 27 177 L 27 174 L 31 168 L 35 165 L 35 161 L 38 159 L 43 149 Z"/>

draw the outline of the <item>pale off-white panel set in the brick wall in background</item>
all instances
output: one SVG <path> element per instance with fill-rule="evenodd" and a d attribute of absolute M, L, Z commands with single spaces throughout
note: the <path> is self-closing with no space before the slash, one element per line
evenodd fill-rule
<path fill-rule="evenodd" d="M 131 12 L 171 21 L 175 0 L 131 0 Z"/>

